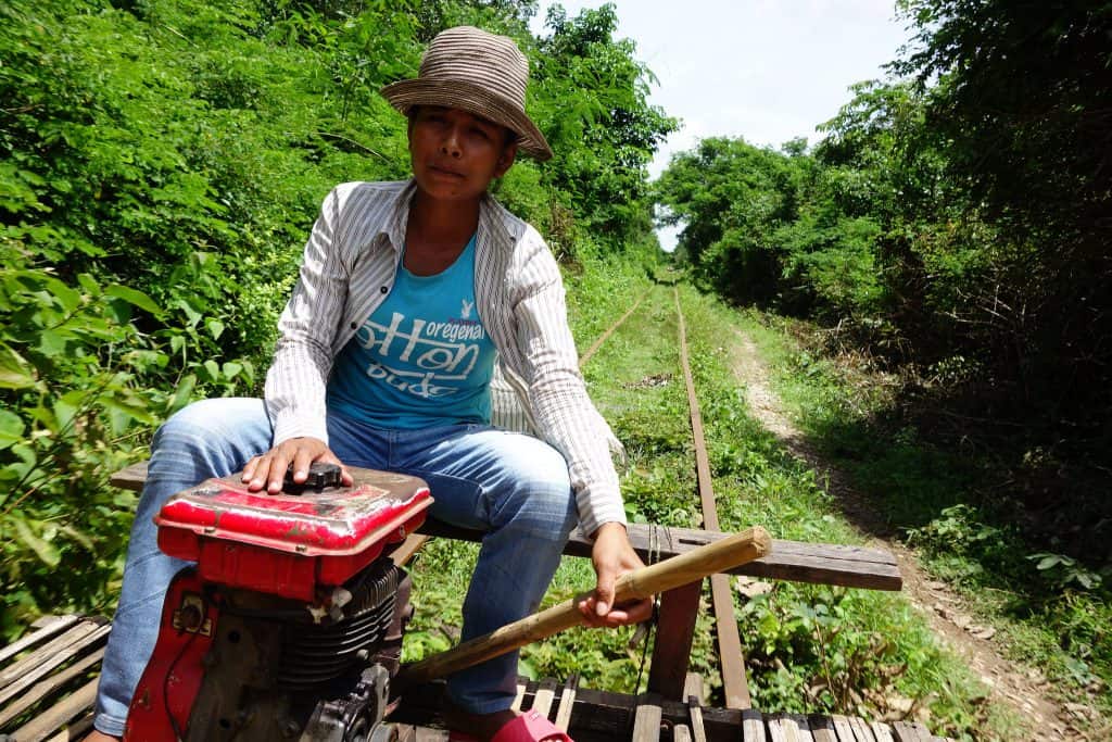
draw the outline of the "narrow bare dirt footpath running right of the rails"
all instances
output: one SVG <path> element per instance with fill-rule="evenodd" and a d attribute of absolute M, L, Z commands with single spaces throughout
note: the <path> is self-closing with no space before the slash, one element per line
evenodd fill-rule
<path fill-rule="evenodd" d="M 818 456 L 784 414 L 780 398 L 765 383 L 767 370 L 756 346 L 744 333 L 738 332 L 737 335 L 737 345 L 732 348 L 733 369 L 745 385 L 754 416 L 793 455 L 818 473 L 818 482 L 826 483 L 827 492 L 837 497 L 845 514 L 873 540 L 873 545 L 888 548 L 896 555 L 904 577 L 904 593 L 927 619 L 941 641 L 966 659 L 970 667 L 987 686 L 989 702 L 1006 704 L 1027 720 L 1033 731 L 1026 739 L 1094 739 L 1072 723 L 1073 714 L 1083 710 L 1059 705 L 1048 694 L 1050 685 L 1036 669 L 1017 666 L 1002 657 L 993 641 L 995 630 L 974 623 L 963 605 L 964 601 L 945 583 L 926 575 L 914 553 L 884 533 L 884 526 L 873 508 L 848 485 L 844 473 Z"/>

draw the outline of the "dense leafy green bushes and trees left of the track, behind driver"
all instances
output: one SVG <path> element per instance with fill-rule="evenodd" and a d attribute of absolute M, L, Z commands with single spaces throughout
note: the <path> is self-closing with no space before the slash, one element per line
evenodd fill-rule
<path fill-rule="evenodd" d="M 509 33 L 533 60 L 556 158 L 497 196 L 568 264 L 656 249 L 645 165 L 675 122 L 645 102 L 610 9 L 556 12 L 544 38 L 534 9 L 0 7 L 0 634 L 110 611 L 133 498 L 108 474 L 191 398 L 259 392 L 321 199 L 408 172 L 405 120 L 377 91 L 440 29 Z"/>

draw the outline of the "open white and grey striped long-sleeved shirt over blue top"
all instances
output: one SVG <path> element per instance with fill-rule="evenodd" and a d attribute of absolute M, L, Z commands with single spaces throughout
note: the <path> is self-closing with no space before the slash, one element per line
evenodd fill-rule
<path fill-rule="evenodd" d="M 278 323 L 266 403 L 275 444 L 328 441 L 325 388 L 332 360 L 394 286 L 416 186 L 348 182 L 325 199 Z M 579 527 L 625 523 L 609 449 L 614 434 L 587 397 L 567 324 L 564 284 L 544 238 L 492 197 L 475 243 L 476 309 L 530 426 L 567 461 Z"/>

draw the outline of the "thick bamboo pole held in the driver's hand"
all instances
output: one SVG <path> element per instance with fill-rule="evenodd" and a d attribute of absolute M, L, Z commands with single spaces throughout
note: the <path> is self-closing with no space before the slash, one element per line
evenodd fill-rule
<path fill-rule="evenodd" d="M 620 605 L 628 601 L 643 600 L 702 580 L 708 574 L 732 570 L 761 558 L 771 551 L 772 538 L 764 528 L 759 526 L 746 528 L 686 554 L 622 575 L 614 586 L 614 602 Z M 446 652 L 406 665 L 401 669 L 398 682 L 423 683 L 434 677 L 450 675 L 565 629 L 577 626 L 583 623 L 583 615 L 577 605 L 588 594 L 584 593 L 540 613 L 507 624 L 495 632 L 464 642 Z"/>

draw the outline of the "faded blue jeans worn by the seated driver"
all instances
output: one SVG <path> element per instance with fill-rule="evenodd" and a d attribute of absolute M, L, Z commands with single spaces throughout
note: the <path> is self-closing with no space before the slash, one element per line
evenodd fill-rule
<path fill-rule="evenodd" d="M 242 468 L 270 448 L 271 435 L 262 400 L 246 398 L 190 405 L 155 435 L 97 693 L 101 732 L 123 733 L 162 596 L 187 564 L 158 551 L 152 518 L 170 495 Z M 337 413 L 329 413 L 328 436 L 345 464 L 421 477 L 436 501 L 433 516 L 487 532 L 464 601 L 463 641 L 536 611 L 576 524 L 567 464 L 555 448 L 485 425 L 384 431 Z M 515 652 L 453 675 L 448 693 L 471 713 L 503 711 L 516 677 Z"/>

